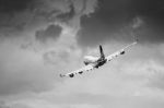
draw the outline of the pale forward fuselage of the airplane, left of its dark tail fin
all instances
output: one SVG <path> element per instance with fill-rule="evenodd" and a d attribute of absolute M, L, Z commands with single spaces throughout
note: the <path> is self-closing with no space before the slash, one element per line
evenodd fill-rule
<path fill-rule="evenodd" d="M 85 56 L 84 57 L 84 64 L 87 65 L 90 63 L 95 63 L 97 60 L 98 60 L 97 57 Z"/>

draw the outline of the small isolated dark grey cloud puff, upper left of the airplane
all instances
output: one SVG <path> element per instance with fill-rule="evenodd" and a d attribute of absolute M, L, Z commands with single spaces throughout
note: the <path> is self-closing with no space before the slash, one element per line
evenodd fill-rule
<path fill-rule="evenodd" d="M 46 43 L 48 39 L 57 39 L 61 34 L 61 26 L 59 25 L 49 25 L 46 29 L 37 31 L 35 34 L 36 40 Z"/>

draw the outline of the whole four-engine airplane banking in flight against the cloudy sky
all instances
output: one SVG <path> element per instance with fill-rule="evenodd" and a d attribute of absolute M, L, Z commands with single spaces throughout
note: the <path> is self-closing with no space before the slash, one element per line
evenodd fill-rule
<path fill-rule="evenodd" d="M 101 53 L 99 57 L 85 56 L 84 57 L 85 67 L 81 68 L 80 70 L 70 72 L 70 73 L 60 74 L 60 77 L 63 77 L 63 76 L 73 77 L 77 74 L 82 74 L 82 73 L 91 71 L 93 69 L 98 69 L 99 67 L 104 65 L 105 63 L 107 63 L 108 61 L 118 57 L 119 55 L 125 55 L 126 49 L 136 45 L 137 43 L 138 43 L 138 39 L 136 41 L 133 41 L 132 44 L 124 47 L 122 49 L 120 49 L 107 57 L 104 55 L 102 45 L 99 45 L 99 53 Z"/>

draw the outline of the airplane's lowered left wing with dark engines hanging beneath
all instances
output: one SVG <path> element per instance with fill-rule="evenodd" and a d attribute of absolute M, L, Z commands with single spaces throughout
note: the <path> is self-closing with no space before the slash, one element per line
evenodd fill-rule
<path fill-rule="evenodd" d="M 87 72 L 87 71 L 91 71 L 94 69 L 94 65 L 93 64 L 89 64 L 89 65 L 85 65 L 77 71 L 73 71 L 73 72 L 70 72 L 70 73 L 66 73 L 66 74 L 60 74 L 61 77 L 63 76 L 70 76 L 70 77 L 73 77 L 75 74 L 82 74 L 84 72 Z"/>

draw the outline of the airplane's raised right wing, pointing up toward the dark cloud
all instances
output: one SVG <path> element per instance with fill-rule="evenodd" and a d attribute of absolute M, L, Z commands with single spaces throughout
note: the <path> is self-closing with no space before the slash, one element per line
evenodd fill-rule
<path fill-rule="evenodd" d="M 137 41 L 138 41 L 138 40 L 137 40 Z M 107 61 L 113 60 L 114 58 L 118 57 L 119 55 L 124 55 L 124 53 L 125 53 L 125 50 L 128 49 L 129 47 L 136 45 L 137 41 L 134 41 L 134 43 L 132 43 L 132 44 L 126 46 L 125 48 L 122 48 L 122 49 L 120 49 L 120 50 L 114 52 L 113 55 L 107 56 L 107 57 L 106 57 Z"/>

